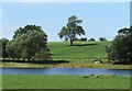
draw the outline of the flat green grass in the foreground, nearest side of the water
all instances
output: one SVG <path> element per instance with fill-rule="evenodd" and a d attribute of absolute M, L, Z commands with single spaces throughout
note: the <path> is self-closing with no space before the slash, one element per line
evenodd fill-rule
<path fill-rule="evenodd" d="M 129 89 L 130 78 L 119 76 L 3 75 L 3 89 Z"/>

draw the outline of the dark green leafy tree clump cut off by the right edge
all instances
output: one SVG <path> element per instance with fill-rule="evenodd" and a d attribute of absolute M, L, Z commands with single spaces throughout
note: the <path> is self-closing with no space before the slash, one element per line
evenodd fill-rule
<path fill-rule="evenodd" d="M 113 62 L 132 64 L 132 27 L 121 29 L 106 50 Z"/>

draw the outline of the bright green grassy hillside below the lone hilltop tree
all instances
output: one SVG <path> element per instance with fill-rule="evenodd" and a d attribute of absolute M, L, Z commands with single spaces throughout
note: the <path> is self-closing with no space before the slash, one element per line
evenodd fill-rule
<path fill-rule="evenodd" d="M 94 59 L 106 58 L 106 45 L 110 42 L 48 42 L 53 59 Z"/>

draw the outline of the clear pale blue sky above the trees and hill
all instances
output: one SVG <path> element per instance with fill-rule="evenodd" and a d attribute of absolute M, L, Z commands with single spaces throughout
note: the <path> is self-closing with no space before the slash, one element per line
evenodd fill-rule
<path fill-rule="evenodd" d="M 20 0 L 21 1 L 21 0 Z M 130 2 L 6 2 L 2 7 L 2 35 L 11 39 L 26 24 L 42 26 L 50 42 L 62 41 L 57 33 L 72 15 L 84 22 L 84 37 L 112 39 L 120 29 L 130 26 Z"/>

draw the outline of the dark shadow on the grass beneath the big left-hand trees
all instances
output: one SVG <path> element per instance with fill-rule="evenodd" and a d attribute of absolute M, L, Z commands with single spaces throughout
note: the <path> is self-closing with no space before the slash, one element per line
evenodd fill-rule
<path fill-rule="evenodd" d="M 44 64 L 44 65 L 58 65 L 67 64 L 68 60 L 2 60 L 2 62 L 20 62 L 20 64 Z"/>

